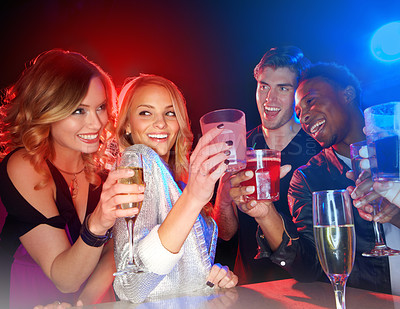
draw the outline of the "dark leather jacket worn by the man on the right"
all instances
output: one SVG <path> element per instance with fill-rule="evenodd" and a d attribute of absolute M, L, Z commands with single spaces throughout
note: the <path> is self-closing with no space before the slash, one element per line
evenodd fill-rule
<path fill-rule="evenodd" d="M 349 170 L 332 148 L 323 149 L 307 165 L 294 173 L 290 182 L 288 203 L 292 218 L 283 217 L 285 232 L 280 247 L 271 252 L 261 229 L 257 232 L 259 257 L 269 257 L 303 282 L 327 281 L 315 249 L 312 221 L 312 192 L 345 189 L 354 182 L 346 178 Z M 348 286 L 391 293 L 390 270 L 387 257 L 363 257 L 362 252 L 374 246 L 371 222 L 363 220 L 353 207 L 356 229 L 356 258 L 347 281 Z"/>

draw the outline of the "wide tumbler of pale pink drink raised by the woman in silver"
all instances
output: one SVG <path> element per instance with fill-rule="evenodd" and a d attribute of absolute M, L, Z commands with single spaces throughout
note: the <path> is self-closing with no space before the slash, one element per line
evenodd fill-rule
<path fill-rule="evenodd" d="M 200 118 L 203 134 L 224 125 L 224 132 L 215 138 L 215 142 L 232 141 L 233 147 L 228 157 L 227 171 L 240 171 L 246 167 L 246 118 L 245 114 L 237 109 L 220 109 L 209 112 Z"/>

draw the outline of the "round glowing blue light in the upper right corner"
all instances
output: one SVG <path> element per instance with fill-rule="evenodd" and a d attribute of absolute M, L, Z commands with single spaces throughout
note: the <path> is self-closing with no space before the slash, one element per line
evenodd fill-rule
<path fill-rule="evenodd" d="M 374 33 L 371 51 L 380 61 L 400 60 L 400 21 L 386 24 Z"/>

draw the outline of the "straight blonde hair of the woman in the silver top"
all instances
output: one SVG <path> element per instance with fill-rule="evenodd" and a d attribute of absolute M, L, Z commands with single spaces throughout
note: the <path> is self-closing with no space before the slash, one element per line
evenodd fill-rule
<path fill-rule="evenodd" d="M 190 129 L 185 98 L 179 88 L 170 80 L 161 76 L 141 74 L 125 83 L 118 97 L 119 114 L 116 128 L 118 143 L 122 148 L 133 144 L 131 137 L 126 134 L 126 127 L 129 123 L 129 115 L 135 93 L 140 87 L 147 85 L 161 86 L 168 91 L 171 97 L 172 106 L 179 124 L 179 131 L 176 142 L 170 150 L 167 164 L 173 171 L 175 180 L 186 183 L 189 175 L 189 152 L 193 143 L 193 133 Z"/>

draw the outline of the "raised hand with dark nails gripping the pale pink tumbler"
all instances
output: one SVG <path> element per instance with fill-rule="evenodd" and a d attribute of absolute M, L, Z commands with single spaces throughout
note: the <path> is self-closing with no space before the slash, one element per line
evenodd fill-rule
<path fill-rule="evenodd" d="M 226 171 L 229 163 L 227 158 L 230 155 L 232 141 L 226 143 L 213 141 L 223 131 L 214 128 L 204 134 L 190 156 L 189 180 L 185 190 L 201 205 L 210 201 L 215 183 Z"/>

